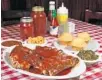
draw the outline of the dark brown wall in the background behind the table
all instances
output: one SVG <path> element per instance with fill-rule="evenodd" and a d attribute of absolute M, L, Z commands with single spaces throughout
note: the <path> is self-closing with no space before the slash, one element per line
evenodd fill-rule
<path fill-rule="evenodd" d="M 46 14 L 49 10 L 50 0 L 1 0 L 2 11 L 9 10 L 30 10 L 32 6 L 43 5 L 45 7 Z M 85 9 L 93 11 L 102 11 L 102 0 L 54 0 L 56 1 L 56 7 L 61 6 L 64 2 L 65 6 L 69 9 L 69 17 L 85 20 Z M 23 5 L 22 5 L 23 4 Z M 26 4 L 26 5 L 25 5 Z"/>

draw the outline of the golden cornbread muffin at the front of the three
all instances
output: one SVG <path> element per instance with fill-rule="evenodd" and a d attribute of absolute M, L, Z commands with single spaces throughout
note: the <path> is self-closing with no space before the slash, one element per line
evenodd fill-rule
<path fill-rule="evenodd" d="M 83 50 L 84 47 L 86 46 L 86 43 L 83 39 L 81 38 L 75 38 L 72 43 L 72 49 L 75 50 L 75 51 L 80 51 L 80 50 Z"/>

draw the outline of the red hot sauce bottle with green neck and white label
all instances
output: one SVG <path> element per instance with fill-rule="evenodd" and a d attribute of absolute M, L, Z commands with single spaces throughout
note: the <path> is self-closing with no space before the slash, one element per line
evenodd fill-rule
<path fill-rule="evenodd" d="M 57 35 L 58 34 L 58 21 L 57 21 L 57 13 L 56 10 L 52 11 L 52 21 L 50 24 L 50 34 Z"/>

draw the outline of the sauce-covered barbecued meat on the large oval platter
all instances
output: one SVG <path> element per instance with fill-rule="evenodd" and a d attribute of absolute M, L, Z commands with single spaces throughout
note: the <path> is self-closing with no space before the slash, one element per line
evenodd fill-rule
<path fill-rule="evenodd" d="M 39 46 L 36 47 L 35 50 L 30 50 L 29 48 L 23 46 L 16 46 L 11 52 L 10 56 L 15 57 L 15 59 L 24 66 L 24 70 L 35 74 L 44 74 L 44 70 L 46 70 L 47 73 L 48 71 L 50 71 L 50 69 L 57 69 L 57 74 L 52 72 L 54 75 L 66 75 L 70 73 L 71 68 L 75 66 L 75 64 L 74 66 L 72 66 L 71 63 L 76 62 L 73 62 L 72 56 L 61 54 L 61 51 L 59 52 L 56 49 Z M 69 60 L 72 60 L 71 63 Z M 68 64 L 71 65 L 71 68 L 70 66 L 67 68 L 63 68 L 63 66 L 65 67 L 65 65 Z M 25 68 L 26 65 L 29 65 L 29 67 Z M 44 75 L 49 75 L 49 73 Z"/>

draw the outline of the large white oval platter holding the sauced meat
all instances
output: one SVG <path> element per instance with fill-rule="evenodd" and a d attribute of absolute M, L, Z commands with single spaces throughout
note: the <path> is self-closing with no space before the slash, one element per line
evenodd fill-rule
<path fill-rule="evenodd" d="M 10 55 L 10 52 L 12 51 L 12 49 L 6 49 L 3 52 L 4 61 L 6 62 L 6 64 L 9 67 L 14 69 L 15 71 L 18 71 L 18 72 L 23 73 L 23 74 L 27 74 L 29 76 L 33 76 L 33 77 L 36 77 L 36 78 L 43 78 L 43 79 L 66 79 L 66 78 L 78 77 L 78 76 L 80 76 L 81 74 L 83 74 L 86 71 L 86 65 L 85 65 L 84 61 L 82 61 L 78 56 L 73 55 L 73 54 L 69 54 L 69 55 L 72 55 L 74 57 L 78 57 L 79 58 L 79 63 L 67 75 L 63 75 L 63 76 L 46 76 L 46 75 L 34 74 L 34 73 L 27 72 L 27 71 L 20 70 L 20 69 L 15 69 L 15 68 L 12 67 L 12 65 L 10 63 L 10 60 L 9 60 L 9 55 Z"/>

